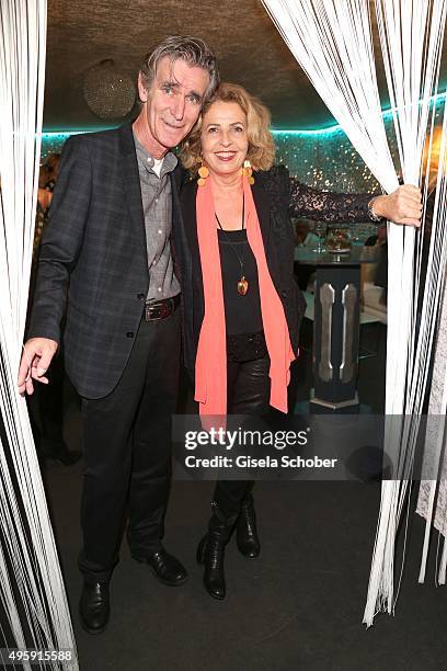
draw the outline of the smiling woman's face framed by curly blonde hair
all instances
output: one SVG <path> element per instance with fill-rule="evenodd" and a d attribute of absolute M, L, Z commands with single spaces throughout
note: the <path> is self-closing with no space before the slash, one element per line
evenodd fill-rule
<path fill-rule="evenodd" d="M 238 103 L 213 103 L 203 118 L 200 145 L 203 161 L 210 172 L 238 172 L 249 150 L 247 116 Z"/>

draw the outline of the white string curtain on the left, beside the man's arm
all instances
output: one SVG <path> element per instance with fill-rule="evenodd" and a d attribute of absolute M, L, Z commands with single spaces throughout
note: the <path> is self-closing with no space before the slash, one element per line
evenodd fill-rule
<path fill-rule="evenodd" d="M 72 651 L 71 662 L 65 657 L 42 668 L 78 669 L 26 402 L 16 387 L 36 212 L 46 9 L 46 0 L 0 3 L 0 596 L 8 618 L 1 633 L 12 647 Z"/>

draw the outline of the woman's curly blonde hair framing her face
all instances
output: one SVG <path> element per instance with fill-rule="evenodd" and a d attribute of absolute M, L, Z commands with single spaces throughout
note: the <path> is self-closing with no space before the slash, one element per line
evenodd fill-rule
<path fill-rule="evenodd" d="M 243 87 L 222 82 L 205 103 L 191 135 L 180 147 L 181 161 L 193 175 L 200 167 L 202 120 L 215 102 L 234 102 L 247 115 L 249 150 L 247 153 L 253 170 L 270 170 L 275 158 L 275 143 L 270 130 L 271 114 L 265 105 Z"/>

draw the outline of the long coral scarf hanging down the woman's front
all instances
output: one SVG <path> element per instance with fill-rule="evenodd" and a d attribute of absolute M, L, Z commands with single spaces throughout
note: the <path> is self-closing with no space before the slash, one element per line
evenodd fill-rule
<path fill-rule="evenodd" d="M 261 314 L 271 360 L 270 402 L 274 408 L 287 412 L 287 385 L 295 354 L 283 304 L 268 272 L 251 187 L 245 177 L 241 179 L 245 202 L 247 238 L 256 259 Z M 197 189 L 196 212 L 205 316 L 198 339 L 194 398 L 199 402 L 200 416 L 225 416 L 227 413 L 227 338 L 219 242 L 209 179 L 204 186 Z"/>

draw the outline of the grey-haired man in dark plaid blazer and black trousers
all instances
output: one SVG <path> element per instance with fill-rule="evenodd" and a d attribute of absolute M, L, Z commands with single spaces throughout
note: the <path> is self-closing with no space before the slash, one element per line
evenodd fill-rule
<path fill-rule="evenodd" d="M 133 557 L 165 584 L 187 579 L 161 545 L 180 361 L 170 234 L 182 169 L 169 149 L 217 83 L 215 56 L 200 39 L 158 45 L 139 72 L 134 124 L 66 143 L 42 243 L 19 389 L 47 384 L 69 287 L 65 361 L 82 398 L 85 463 L 80 615 L 92 634 L 108 622 L 126 503 Z"/>

